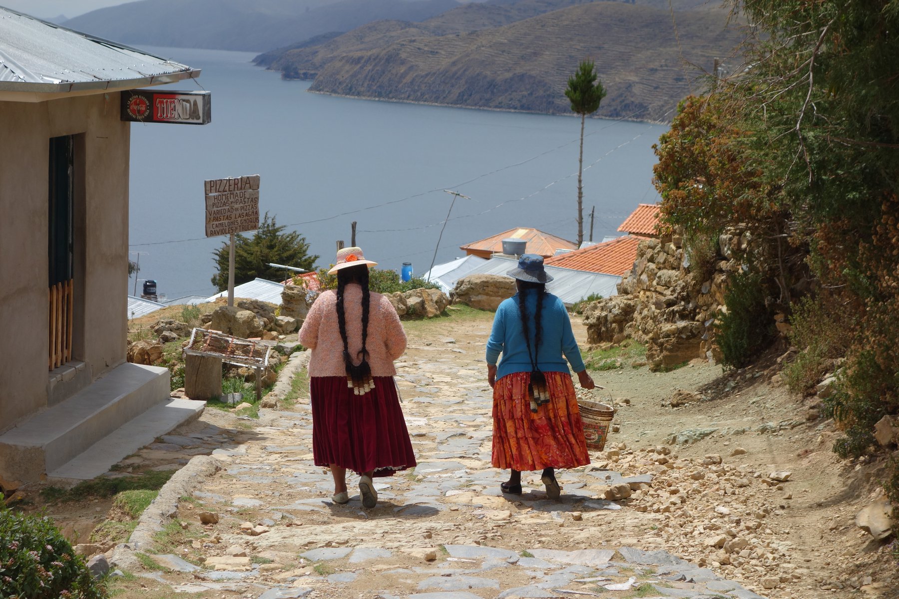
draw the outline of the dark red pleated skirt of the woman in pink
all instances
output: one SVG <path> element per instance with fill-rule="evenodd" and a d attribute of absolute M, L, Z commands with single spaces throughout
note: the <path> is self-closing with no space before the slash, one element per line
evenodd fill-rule
<path fill-rule="evenodd" d="M 312 453 L 316 466 L 393 476 L 412 468 L 415 454 L 392 376 L 375 376 L 375 389 L 353 395 L 345 376 L 313 376 Z"/>

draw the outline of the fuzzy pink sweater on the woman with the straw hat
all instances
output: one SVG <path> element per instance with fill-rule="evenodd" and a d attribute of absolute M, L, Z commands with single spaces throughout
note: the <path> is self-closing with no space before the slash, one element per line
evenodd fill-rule
<path fill-rule="evenodd" d="M 359 363 L 357 353 L 362 348 L 362 287 L 350 284 L 343 288 L 343 307 L 346 311 L 346 336 L 350 356 Z M 337 293 L 325 291 L 318 296 L 302 329 L 299 342 L 312 350 L 309 376 L 346 376 L 343 365 L 343 339 L 337 325 Z M 393 361 L 405 351 L 405 331 L 393 304 L 384 295 L 369 294 L 369 366 L 372 376 L 393 376 Z"/>

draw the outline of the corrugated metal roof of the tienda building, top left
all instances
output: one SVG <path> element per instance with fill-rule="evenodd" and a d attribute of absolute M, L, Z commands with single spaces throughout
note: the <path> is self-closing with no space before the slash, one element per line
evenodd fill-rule
<path fill-rule="evenodd" d="M 198 69 L 0 7 L 0 90 L 76 92 L 165 84 Z"/>

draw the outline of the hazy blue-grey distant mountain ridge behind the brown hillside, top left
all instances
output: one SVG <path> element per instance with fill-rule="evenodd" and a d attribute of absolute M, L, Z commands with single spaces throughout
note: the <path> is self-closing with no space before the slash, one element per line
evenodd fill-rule
<path fill-rule="evenodd" d="M 423 21 L 457 0 L 140 0 L 66 27 L 132 45 L 262 52 L 381 19 Z"/>

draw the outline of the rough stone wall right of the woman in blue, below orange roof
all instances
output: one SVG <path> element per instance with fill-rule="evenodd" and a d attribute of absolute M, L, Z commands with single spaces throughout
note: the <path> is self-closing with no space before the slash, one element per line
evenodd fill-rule
<path fill-rule="evenodd" d="M 645 343 L 646 359 L 654 369 L 697 357 L 718 361 L 714 324 L 726 309 L 729 273 L 740 268 L 740 261 L 731 259 L 746 251 L 749 242 L 748 233 L 721 235 L 708 277 L 691 268 L 680 236 L 640 242 L 634 266 L 619 283 L 619 295 L 584 308 L 588 342 L 631 338 Z"/>

